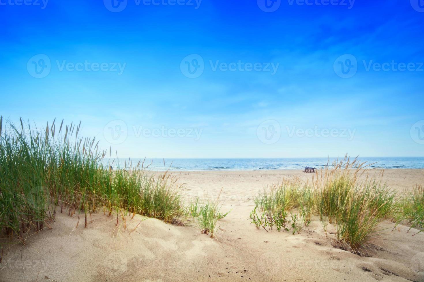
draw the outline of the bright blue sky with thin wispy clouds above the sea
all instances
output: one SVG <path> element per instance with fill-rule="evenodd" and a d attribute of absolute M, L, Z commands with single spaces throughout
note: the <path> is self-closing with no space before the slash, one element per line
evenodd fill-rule
<path fill-rule="evenodd" d="M 424 156 L 418 0 L 113 1 L 0 0 L 4 118 L 120 157 Z"/>

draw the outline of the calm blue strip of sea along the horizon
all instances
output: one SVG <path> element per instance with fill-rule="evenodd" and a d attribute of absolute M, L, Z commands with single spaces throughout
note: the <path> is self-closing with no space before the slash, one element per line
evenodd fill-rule
<path fill-rule="evenodd" d="M 147 170 L 301 170 L 304 167 L 325 168 L 337 158 L 275 158 L 275 159 L 139 159 L 131 158 L 132 166 L 144 160 Z M 343 159 L 343 158 L 342 158 Z M 340 160 L 340 158 L 339 158 Z M 358 157 L 372 168 L 424 169 L 424 157 Z M 128 167 L 128 159 L 103 160 L 112 167 Z"/>

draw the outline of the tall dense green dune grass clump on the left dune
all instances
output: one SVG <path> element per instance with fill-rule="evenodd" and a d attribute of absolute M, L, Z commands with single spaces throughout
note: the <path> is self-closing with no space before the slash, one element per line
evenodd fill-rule
<path fill-rule="evenodd" d="M 50 228 L 57 211 L 78 214 L 78 223 L 85 214 L 85 226 L 98 211 L 116 213 L 117 220 L 132 213 L 165 222 L 184 213 L 176 178 L 155 177 L 131 160 L 112 170 L 102 162 L 108 152 L 94 138 L 79 137 L 80 128 L 62 120 L 33 130 L 29 122 L 15 126 L 1 118 L 0 232 L 25 242 L 30 231 Z"/>

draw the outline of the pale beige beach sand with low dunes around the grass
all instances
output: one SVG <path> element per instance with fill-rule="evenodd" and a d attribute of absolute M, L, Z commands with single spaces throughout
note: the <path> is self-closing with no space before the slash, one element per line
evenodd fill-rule
<path fill-rule="evenodd" d="M 376 173 L 378 173 L 376 171 Z M 116 225 L 116 214 L 58 214 L 43 230 L 4 249 L 0 281 L 424 281 L 424 233 L 406 226 L 372 241 L 369 257 L 335 248 L 315 218 L 301 234 L 266 232 L 250 223 L 252 197 L 261 189 L 298 175 L 300 170 L 172 172 L 184 197 L 218 197 L 217 238 L 194 225 L 165 224 L 136 215 Z M 424 183 L 424 170 L 385 170 L 383 179 L 400 192 Z M 222 192 L 220 193 L 222 189 Z M 329 233 L 334 228 L 329 227 Z M 414 235 L 416 234 L 416 235 Z"/>

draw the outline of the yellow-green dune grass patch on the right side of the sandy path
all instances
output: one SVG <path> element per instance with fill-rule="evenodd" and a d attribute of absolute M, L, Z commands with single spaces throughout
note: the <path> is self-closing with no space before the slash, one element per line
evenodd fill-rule
<path fill-rule="evenodd" d="M 304 226 L 312 216 L 319 216 L 326 234 L 328 224 L 333 224 L 334 241 L 357 253 L 377 237 L 385 220 L 397 224 L 407 219 L 413 227 L 422 227 L 422 187 L 402 198 L 381 181 L 382 173 L 370 176 L 370 166 L 345 156 L 316 172 L 312 181 L 301 183 L 294 178 L 273 185 L 254 197 L 252 223 L 267 231 L 274 225 L 278 231 L 289 231 L 300 227 L 293 223 L 297 215 Z"/>

